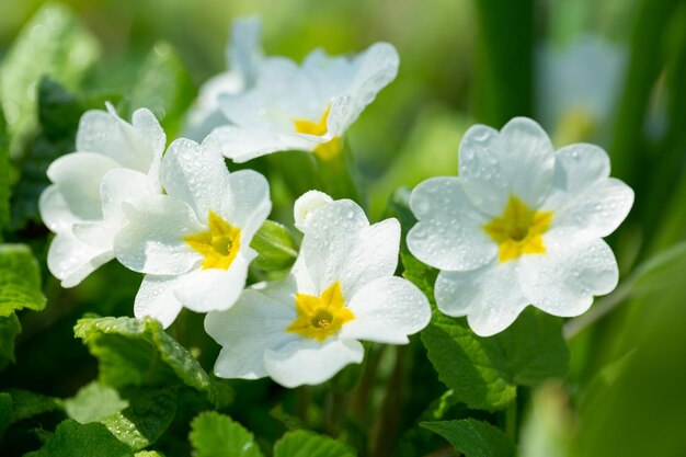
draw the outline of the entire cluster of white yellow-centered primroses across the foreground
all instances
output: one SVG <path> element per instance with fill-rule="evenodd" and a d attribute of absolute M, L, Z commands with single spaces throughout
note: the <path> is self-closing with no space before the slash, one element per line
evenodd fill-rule
<path fill-rule="evenodd" d="M 255 171 L 229 173 L 222 156 L 336 157 L 399 59 L 389 44 L 353 58 L 315 50 L 301 66 L 264 58 L 259 27 L 236 25 L 231 71 L 203 90 L 190 114 L 188 136 L 201 144 L 180 138 L 164 152 L 164 133 L 145 108 L 130 124 L 110 105 L 82 116 L 77 152 L 50 165 L 53 185 L 41 196 L 57 233 L 48 266 L 72 287 L 116 258 L 146 274 L 136 317 L 169 327 L 182 307 L 207 313 L 205 329 L 222 346 L 218 376 L 319 384 L 363 359 L 359 340 L 403 344 L 427 325 L 427 297 L 395 276 L 400 225 L 370 225 L 356 203 L 308 192 L 294 208 L 304 236 L 293 270 L 245 288 L 270 187 Z M 472 127 L 459 163 L 459 178 L 427 180 L 410 201 L 419 222 L 408 248 L 441 270 L 441 311 L 467 316 L 475 332 L 490 335 L 527 305 L 576 316 L 616 286 L 602 237 L 626 217 L 633 194 L 608 178 L 602 149 L 556 152 L 538 124 L 517 118 L 500 133 Z"/>

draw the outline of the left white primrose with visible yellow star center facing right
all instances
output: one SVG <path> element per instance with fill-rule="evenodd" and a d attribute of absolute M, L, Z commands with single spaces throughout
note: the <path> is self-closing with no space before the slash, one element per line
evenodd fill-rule
<path fill-rule="evenodd" d="M 272 202 L 262 174 L 229 174 L 219 152 L 185 138 L 169 146 L 160 181 L 165 195 L 123 205 L 128 224 L 114 252 L 127 267 L 146 273 L 134 315 L 169 327 L 182 307 L 207 312 L 233 305 L 256 256 L 250 242 Z"/>

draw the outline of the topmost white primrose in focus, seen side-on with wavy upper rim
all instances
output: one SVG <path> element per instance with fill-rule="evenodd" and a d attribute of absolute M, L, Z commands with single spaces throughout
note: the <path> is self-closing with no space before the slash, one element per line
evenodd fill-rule
<path fill-rule="evenodd" d="M 221 111 L 236 125 L 216 129 L 210 141 L 237 162 L 285 150 L 335 157 L 345 130 L 396 78 L 398 65 L 388 43 L 353 58 L 316 49 L 300 67 L 286 58 L 265 60 L 254 88 L 220 96 Z"/>

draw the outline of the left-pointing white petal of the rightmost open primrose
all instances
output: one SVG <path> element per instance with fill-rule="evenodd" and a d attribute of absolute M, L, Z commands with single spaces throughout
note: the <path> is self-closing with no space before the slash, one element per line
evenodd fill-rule
<path fill-rule="evenodd" d="M 410 195 L 419 219 L 408 233 L 408 249 L 422 262 L 441 270 L 478 269 L 493 258 L 498 245 L 483 226 L 488 218 L 467 197 L 458 178 L 432 178 Z"/>

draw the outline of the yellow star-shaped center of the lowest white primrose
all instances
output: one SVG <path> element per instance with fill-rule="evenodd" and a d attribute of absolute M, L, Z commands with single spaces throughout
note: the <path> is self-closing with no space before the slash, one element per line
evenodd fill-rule
<path fill-rule="evenodd" d="M 298 317 L 286 330 L 317 341 L 336 334 L 343 324 L 355 319 L 353 311 L 345 307 L 338 281 L 319 297 L 296 294 L 296 311 Z"/>

